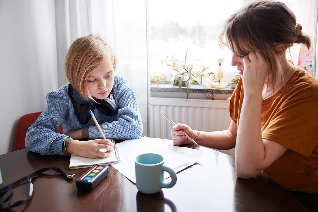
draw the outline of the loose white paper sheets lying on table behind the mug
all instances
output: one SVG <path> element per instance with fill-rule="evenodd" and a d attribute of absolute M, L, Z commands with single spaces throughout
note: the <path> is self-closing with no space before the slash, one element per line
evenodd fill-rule
<path fill-rule="evenodd" d="M 134 183 L 136 183 L 135 158 L 140 154 L 160 154 L 164 158 L 164 165 L 178 172 L 194 164 L 203 153 L 201 150 L 176 147 L 172 143 L 163 143 L 145 136 L 140 139 L 126 140 L 118 143 L 117 150 L 121 162 L 112 164 L 112 166 Z M 169 174 L 164 172 L 164 178 L 168 177 Z"/>

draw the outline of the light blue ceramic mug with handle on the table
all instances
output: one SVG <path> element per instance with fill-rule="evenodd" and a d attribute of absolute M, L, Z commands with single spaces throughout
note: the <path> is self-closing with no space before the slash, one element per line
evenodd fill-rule
<path fill-rule="evenodd" d="M 144 194 L 158 193 L 162 188 L 171 188 L 176 184 L 176 172 L 163 166 L 163 157 L 159 154 L 141 154 L 135 159 L 136 186 Z M 164 183 L 163 171 L 171 176 L 171 182 Z"/>

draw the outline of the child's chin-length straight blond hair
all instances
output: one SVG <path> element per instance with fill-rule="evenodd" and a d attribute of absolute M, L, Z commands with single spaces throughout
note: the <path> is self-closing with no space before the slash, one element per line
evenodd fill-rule
<path fill-rule="evenodd" d="M 65 59 L 65 74 L 73 88 L 86 100 L 93 100 L 88 92 L 88 76 L 105 60 L 116 69 L 116 54 L 100 34 L 77 38 L 70 46 Z"/>

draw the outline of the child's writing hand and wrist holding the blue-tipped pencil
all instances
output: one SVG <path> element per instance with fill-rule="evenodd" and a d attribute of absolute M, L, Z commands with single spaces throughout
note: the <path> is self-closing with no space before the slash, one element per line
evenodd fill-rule
<path fill-rule="evenodd" d="M 114 144 L 108 139 L 95 139 L 87 141 L 72 140 L 68 145 L 66 152 L 68 154 L 77 154 L 86 158 L 106 158 L 113 151 Z M 107 151 L 100 152 L 100 149 Z"/>

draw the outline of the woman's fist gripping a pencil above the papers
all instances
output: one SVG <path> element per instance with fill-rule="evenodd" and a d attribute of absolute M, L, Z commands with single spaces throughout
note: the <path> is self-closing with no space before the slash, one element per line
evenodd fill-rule
<path fill-rule="evenodd" d="M 196 134 L 194 131 L 186 124 L 176 124 L 171 128 L 171 138 L 173 145 L 179 146 L 182 144 L 191 144 L 192 142 L 184 135 L 183 132 L 187 133 L 192 139 L 196 139 Z"/>

